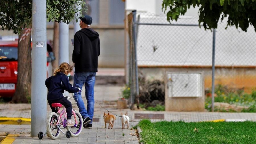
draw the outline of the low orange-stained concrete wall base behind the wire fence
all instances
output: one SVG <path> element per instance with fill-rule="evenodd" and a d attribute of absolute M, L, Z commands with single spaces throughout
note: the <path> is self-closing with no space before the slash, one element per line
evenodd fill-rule
<path fill-rule="evenodd" d="M 165 73 L 184 71 L 203 71 L 204 88 L 212 88 L 211 68 L 139 68 L 147 80 L 165 81 Z M 221 84 L 232 88 L 243 88 L 245 92 L 251 92 L 256 88 L 255 68 L 215 68 L 215 85 Z"/>

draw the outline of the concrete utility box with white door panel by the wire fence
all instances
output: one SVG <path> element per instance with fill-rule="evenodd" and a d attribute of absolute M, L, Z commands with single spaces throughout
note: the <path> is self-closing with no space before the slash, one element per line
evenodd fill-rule
<path fill-rule="evenodd" d="M 203 72 L 166 72 L 166 111 L 204 111 L 204 97 Z"/>

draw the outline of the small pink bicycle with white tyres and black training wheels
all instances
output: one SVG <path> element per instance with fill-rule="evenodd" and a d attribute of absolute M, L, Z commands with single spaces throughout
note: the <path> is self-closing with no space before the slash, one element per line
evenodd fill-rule
<path fill-rule="evenodd" d="M 70 97 L 66 97 L 68 100 Z M 58 110 L 57 113 L 51 112 L 46 121 L 47 130 L 43 134 L 43 132 L 38 133 L 38 138 L 41 140 L 45 134 L 52 139 L 58 139 L 60 136 L 60 132 L 66 135 L 69 139 L 70 137 L 78 137 L 83 129 L 83 118 L 79 111 L 72 110 L 72 121 L 75 123 L 74 126 L 67 126 L 67 113 L 66 108 L 64 107 L 62 111 L 60 111 L 60 107 L 62 104 L 60 103 L 52 103 L 52 107 Z M 61 129 L 67 129 L 66 133 L 64 133 Z"/>

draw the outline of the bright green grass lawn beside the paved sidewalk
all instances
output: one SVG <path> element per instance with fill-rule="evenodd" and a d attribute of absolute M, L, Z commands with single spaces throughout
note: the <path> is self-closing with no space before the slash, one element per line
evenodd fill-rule
<path fill-rule="evenodd" d="M 256 122 L 155 122 L 138 124 L 144 144 L 256 144 Z"/>

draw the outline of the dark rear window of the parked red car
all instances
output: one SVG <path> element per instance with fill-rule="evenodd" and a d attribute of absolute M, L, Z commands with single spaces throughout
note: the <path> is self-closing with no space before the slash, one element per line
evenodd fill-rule
<path fill-rule="evenodd" d="M 17 47 L 0 46 L 0 61 L 17 61 L 18 49 Z"/>

